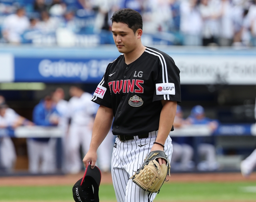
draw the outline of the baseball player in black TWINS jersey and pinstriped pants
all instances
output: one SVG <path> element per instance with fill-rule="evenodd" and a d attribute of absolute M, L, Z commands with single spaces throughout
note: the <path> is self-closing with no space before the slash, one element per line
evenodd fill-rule
<path fill-rule="evenodd" d="M 111 173 L 118 202 L 153 201 L 156 193 L 144 191 L 132 179 L 150 151 L 164 151 L 171 159 L 168 136 L 177 102 L 181 101 L 179 69 L 173 59 L 142 45 L 142 17 L 129 8 L 112 16 L 116 47 L 122 53 L 110 62 L 92 101 L 99 104 L 90 148 L 83 162 L 94 167 L 97 148 L 106 137 L 114 117 L 117 136 Z M 166 163 L 158 158 L 159 164 Z"/>

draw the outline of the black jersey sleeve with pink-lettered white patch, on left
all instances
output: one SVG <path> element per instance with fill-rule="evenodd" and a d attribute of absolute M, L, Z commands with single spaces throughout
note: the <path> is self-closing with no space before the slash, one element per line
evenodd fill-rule
<path fill-rule="evenodd" d="M 107 70 L 105 74 L 102 77 L 101 82 L 97 86 L 96 90 L 93 93 L 92 101 L 99 104 L 106 106 L 108 108 L 112 108 L 112 103 L 111 103 L 111 93 L 110 89 L 108 86 L 108 80 L 107 80 Z"/>

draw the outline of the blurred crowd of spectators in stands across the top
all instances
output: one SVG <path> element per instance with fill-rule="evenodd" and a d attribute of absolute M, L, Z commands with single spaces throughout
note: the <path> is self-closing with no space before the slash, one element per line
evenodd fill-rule
<path fill-rule="evenodd" d="M 162 43 L 256 46 L 256 0 L 1 0 L 0 42 L 74 46 L 95 35 L 94 45 L 113 43 L 110 18 L 127 7 Z"/>

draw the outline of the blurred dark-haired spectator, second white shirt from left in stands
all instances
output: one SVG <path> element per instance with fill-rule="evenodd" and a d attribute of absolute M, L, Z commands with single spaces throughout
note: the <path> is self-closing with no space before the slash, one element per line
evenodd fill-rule
<path fill-rule="evenodd" d="M 38 29 L 42 33 L 54 33 L 55 30 L 59 27 L 60 20 L 58 18 L 50 17 L 47 11 L 41 12 L 41 20 L 38 22 Z"/>

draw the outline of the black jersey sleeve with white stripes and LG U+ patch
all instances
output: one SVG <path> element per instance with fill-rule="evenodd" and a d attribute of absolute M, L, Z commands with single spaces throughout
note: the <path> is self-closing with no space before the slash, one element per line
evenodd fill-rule
<path fill-rule="evenodd" d="M 159 57 L 155 81 L 153 102 L 157 100 L 181 102 L 180 70 L 167 54 L 161 54 Z"/>

